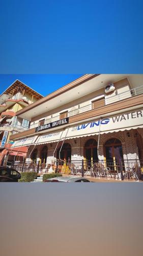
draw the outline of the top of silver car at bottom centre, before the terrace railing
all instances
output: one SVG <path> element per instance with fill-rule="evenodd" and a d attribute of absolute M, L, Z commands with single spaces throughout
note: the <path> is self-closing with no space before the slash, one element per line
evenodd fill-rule
<path fill-rule="evenodd" d="M 90 182 L 87 178 L 61 176 L 45 180 L 45 182 Z"/>

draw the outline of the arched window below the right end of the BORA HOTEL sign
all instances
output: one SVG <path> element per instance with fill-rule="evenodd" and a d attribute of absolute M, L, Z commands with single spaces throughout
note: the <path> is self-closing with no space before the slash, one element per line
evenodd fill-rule
<path fill-rule="evenodd" d="M 58 148 L 57 153 L 56 153 L 56 158 L 57 159 L 66 159 L 66 161 L 68 162 L 68 159 L 70 158 L 71 160 L 71 145 L 69 143 L 64 143 L 61 149 L 61 153 L 60 153 L 60 148 Z M 59 156 L 60 154 L 60 156 Z"/>

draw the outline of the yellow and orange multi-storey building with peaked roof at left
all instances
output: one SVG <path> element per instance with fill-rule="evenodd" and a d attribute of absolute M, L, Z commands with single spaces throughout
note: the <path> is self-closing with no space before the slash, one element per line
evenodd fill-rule
<path fill-rule="evenodd" d="M 15 115 L 19 110 L 43 98 L 42 95 L 27 87 L 24 83 L 16 80 L 9 88 L 0 95 L 0 165 L 4 158 L 8 161 L 23 159 L 26 156 L 27 147 L 14 148 L 10 151 L 13 141 L 10 136 L 13 131 L 24 131 L 30 125 L 26 119 Z M 22 129 L 22 130 L 21 130 Z"/>

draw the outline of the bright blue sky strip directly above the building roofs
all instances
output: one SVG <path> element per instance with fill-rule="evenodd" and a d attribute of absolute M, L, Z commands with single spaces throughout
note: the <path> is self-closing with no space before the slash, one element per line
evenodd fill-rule
<path fill-rule="evenodd" d="M 47 94 L 65 86 L 67 83 L 80 77 L 82 74 L 68 75 L 1 75 L 0 74 L 0 94 L 3 93 L 16 79 L 25 83 L 38 93 Z"/>

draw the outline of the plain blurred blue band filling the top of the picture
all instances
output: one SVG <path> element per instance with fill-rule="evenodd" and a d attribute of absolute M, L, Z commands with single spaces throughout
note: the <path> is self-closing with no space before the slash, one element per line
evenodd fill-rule
<path fill-rule="evenodd" d="M 142 0 L 2 0 L 0 73 L 143 73 L 142 13 Z"/>

